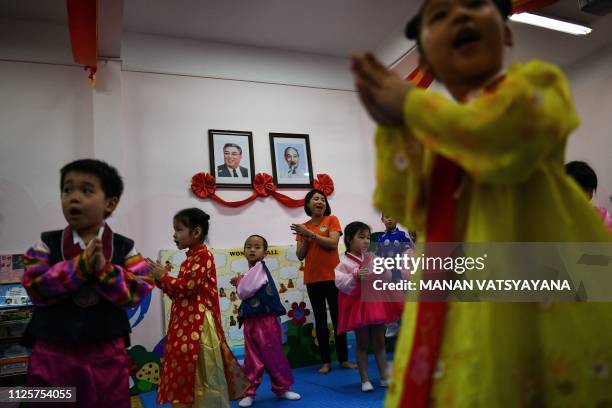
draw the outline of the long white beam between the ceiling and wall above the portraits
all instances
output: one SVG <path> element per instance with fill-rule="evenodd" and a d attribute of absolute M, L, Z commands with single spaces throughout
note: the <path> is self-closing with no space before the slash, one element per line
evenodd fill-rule
<path fill-rule="evenodd" d="M 125 32 L 128 71 L 352 90 L 348 58 Z"/>

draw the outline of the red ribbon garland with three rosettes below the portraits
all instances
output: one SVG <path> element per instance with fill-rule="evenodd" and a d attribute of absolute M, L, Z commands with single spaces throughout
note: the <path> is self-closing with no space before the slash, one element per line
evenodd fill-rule
<path fill-rule="evenodd" d="M 325 195 L 331 195 L 334 192 L 334 182 L 327 174 L 317 174 L 317 179 L 314 181 L 314 188 L 321 190 Z M 298 208 L 304 205 L 304 199 L 293 199 L 284 194 L 279 193 L 274 179 L 267 173 L 257 173 L 253 179 L 253 193 L 240 201 L 225 201 L 216 193 L 217 184 L 215 177 L 210 173 L 200 172 L 191 178 L 191 191 L 198 198 L 210 198 L 219 204 L 227 207 L 241 207 L 250 203 L 257 197 L 272 196 L 285 207 Z"/>

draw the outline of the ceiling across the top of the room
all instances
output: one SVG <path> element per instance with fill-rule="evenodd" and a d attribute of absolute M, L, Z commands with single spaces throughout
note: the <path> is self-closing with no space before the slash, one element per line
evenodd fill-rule
<path fill-rule="evenodd" d="M 129 31 L 347 57 L 397 41 L 417 1 L 100 0 L 100 55 L 121 57 L 122 33 Z M 577 0 L 561 0 L 542 13 L 585 22 L 595 30 L 578 38 L 514 25 L 520 40 L 517 56 L 564 65 L 612 41 L 612 15 L 582 13 Z M 65 25 L 66 2 L 0 0 L 0 19 Z"/>

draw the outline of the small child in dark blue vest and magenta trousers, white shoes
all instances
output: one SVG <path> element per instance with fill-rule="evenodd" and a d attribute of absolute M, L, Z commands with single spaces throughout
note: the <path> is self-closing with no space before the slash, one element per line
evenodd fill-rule
<path fill-rule="evenodd" d="M 280 398 L 299 400 L 300 394 L 290 391 L 293 374 L 281 341 L 278 316 L 286 313 L 270 271 L 263 259 L 268 242 L 251 235 L 244 243 L 244 256 L 249 270 L 238 281 L 238 297 L 242 299 L 238 322 L 244 324 L 244 371 L 251 382 L 247 396 L 238 405 L 250 407 L 261 384 L 264 369 L 268 370 L 272 391 Z"/>

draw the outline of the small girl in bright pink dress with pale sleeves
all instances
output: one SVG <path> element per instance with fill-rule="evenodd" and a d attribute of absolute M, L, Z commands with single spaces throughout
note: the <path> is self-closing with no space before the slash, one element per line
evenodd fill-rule
<path fill-rule="evenodd" d="M 381 387 L 389 385 L 385 351 L 385 324 L 399 320 L 402 307 L 397 302 L 364 302 L 362 285 L 374 279 L 372 260 L 368 252 L 370 227 L 363 222 L 352 222 L 344 229 L 346 252 L 335 269 L 338 296 L 338 334 L 351 330 L 357 338 L 357 365 L 361 377 L 361 391 L 372 391 L 368 378 L 368 345 L 370 337 L 380 374 Z M 369 283 L 371 285 L 371 282 Z"/>

